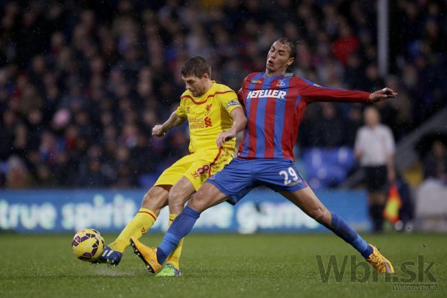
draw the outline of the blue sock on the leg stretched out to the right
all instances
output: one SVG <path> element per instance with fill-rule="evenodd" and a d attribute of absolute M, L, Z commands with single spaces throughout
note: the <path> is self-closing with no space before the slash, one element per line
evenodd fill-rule
<path fill-rule="evenodd" d="M 362 256 L 367 259 L 371 253 L 373 253 L 373 248 L 371 245 L 367 244 L 366 241 L 356 231 L 354 231 L 342 217 L 336 215 L 336 213 L 331 212 L 332 222 L 331 226 L 326 226 L 334 232 L 338 237 L 345 240 L 347 243 L 351 244 L 353 248 L 362 254 Z"/>

